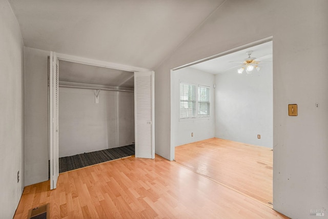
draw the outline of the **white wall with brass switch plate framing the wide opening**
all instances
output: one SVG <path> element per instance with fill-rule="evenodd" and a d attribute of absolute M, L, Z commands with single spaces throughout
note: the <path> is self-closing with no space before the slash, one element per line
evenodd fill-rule
<path fill-rule="evenodd" d="M 224 2 L 155 68 L 156 153 L 174 158 L 171 69 L 273 36 L 273 206 L 292 218 L 328 209 L 327 11 L 325 0 Z"/>

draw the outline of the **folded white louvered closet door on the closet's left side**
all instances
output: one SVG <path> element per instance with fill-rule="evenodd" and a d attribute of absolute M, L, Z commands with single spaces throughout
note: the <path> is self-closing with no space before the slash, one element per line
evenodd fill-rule
<path fill-rule="evenodd" d="M 49 150 L 50 150 L 50 189 L 57 187 L 59 176 L 58 146 L 58 94 L 59 94 L 59 62 L 55 52 L 50 52 L 49 80 Z"/>

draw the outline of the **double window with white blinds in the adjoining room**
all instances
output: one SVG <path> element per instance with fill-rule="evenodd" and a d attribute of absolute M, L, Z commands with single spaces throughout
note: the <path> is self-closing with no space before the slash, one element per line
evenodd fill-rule
<path fill-rule="evenodd" d="M 210 116 L 210 87 L 180 83 L 180 118 Z"/>

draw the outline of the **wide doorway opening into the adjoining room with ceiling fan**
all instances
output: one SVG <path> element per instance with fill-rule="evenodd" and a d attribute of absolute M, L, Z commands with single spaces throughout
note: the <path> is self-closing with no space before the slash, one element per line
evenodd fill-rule
<path fill-rule="evenodd" d="M 271 38 L 171 72 L 171 147 L 179 146 L 175 161 L 270 207 L 272 61 Z M 187 98 L 181 95 L 181 84 L 209 87 L 210 116 L 182 117 L 182 108 L 190 106 L 181 104 Z M 201 101 L 196 94 L 196 115 Z"/>

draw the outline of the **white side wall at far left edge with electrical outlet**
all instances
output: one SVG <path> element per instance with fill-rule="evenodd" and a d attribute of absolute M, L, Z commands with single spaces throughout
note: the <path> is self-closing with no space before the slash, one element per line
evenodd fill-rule
<path fill-rule="evenodd" d="M 0 30 L 0 218 L 12 218 L 24 188 L 24 56 L 6 0 L 0 1 Z"/>

